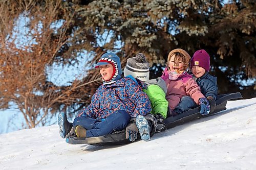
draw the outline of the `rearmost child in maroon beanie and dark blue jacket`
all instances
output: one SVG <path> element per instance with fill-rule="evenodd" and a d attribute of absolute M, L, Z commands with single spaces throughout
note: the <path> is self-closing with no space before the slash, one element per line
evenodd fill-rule
<path fill-rule="evenodd" d="M 195 76 L 197 84 L 201 88 L 201 92 L 207 98 L 210 104 L 210 113 L 216 107 L 216 98 L 218 94 L 217 77 L 209 74 L 210 56 L 205 50 L 198 50 L 191 58 L 190 68 Z"/>

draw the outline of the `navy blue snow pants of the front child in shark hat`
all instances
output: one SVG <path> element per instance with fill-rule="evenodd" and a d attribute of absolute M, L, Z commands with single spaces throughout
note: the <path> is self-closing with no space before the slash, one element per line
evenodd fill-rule
<path fill-rule="evenodd" d="M 124 110 L 118 110 L 102 121 L 91 117 L 76 117 L 73 127 L 75 129 L 80 125 L 86 128 L 86 137 L 97 137 L 123 130 L 130 122 L 130 119 L 129 113 Z"/>

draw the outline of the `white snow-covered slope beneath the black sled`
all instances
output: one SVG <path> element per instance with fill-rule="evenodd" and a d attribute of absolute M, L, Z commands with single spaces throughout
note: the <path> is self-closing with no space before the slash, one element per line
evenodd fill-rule
<path fill-rule="evenodd" d="M 0 135 L 0 169 L 256 169 L 256 98 L 126 145 L 72 145 L 58 126 Z"/>

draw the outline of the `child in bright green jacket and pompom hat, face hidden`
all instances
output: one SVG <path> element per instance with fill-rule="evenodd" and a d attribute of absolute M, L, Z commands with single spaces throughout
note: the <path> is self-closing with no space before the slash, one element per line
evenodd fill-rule
<path fill-rule="evenodd" d="M 168 102 L 165 99 L 167 89 L 162 78 L 149 80 L 149 68 L 150 63 L 146 61 L 145 55 L 139 53 L 135 57 L 127 59 L 123 73 L 124 77 L 130 77 L 136 83 L 141 84 L 143 91 L 151 101 L 151 113 L 157 119 L 156 132 L 159 132 L 165 128 L 163 120 L 166 118 L 168 108 Z"/>

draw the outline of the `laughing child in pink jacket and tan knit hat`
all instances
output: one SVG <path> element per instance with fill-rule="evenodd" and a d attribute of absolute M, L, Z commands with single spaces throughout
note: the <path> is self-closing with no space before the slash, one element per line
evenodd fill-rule
<path fill-rule="evenodd" d="M 166 99 L 170 115 L 173 116 L 197 105 L 201 105 L 202 115 L 207 115 L 210 111 L 209 103 L 201 93 L 200 87 L 192 76 L 187 74 L 189 60 L 190 56 L 185 50 L 177 48 L 171 51 L 167 59 L 167 68 L 161 77 L 167 86 Z"/>

